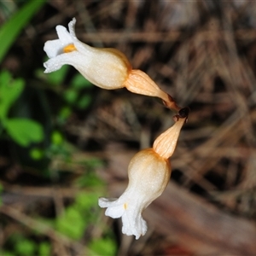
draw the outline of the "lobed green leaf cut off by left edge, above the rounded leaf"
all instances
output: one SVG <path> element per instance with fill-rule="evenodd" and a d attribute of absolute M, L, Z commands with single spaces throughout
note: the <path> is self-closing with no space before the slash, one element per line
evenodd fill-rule
<path fill-rule="evenodd" d="M 20 96 L 24 89 L 22 79 L 12 80 L 7 71 L 0 73 L 0 119 L 4 119 L 10 106 Z"/>

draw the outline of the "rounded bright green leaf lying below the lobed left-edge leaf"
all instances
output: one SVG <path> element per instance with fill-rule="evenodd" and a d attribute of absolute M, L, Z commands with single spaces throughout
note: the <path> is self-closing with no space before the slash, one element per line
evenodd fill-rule
<path fill-rule="evenodd" d="M 5 122 L 9 136 L 23 147 L 39 143 L 44 138 L 42 125 L 31 119 L 7 119 Z"/>

